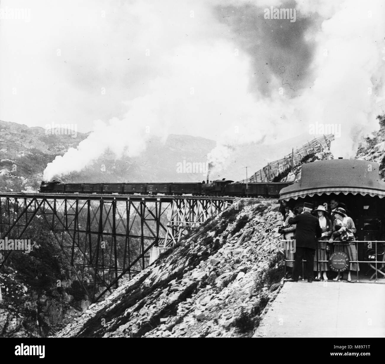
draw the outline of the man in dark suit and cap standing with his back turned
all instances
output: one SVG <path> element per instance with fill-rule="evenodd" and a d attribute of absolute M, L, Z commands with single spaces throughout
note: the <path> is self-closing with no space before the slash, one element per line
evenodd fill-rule
<path fill-rule="evenodd" d="M 295 231 L 295 262 L 291 279 L 288 281 L 297 282 L 301 273 L 302 259 L 306 260 L 305 275 L 308 282 L 313 282 L 314 254 L 317 247 L 317 238 L 322 234 L 318 219 L 311 215 L 313 205 L 305 202 L 302 214 L 290 217 L 288 224 L 296 224 Z"/>

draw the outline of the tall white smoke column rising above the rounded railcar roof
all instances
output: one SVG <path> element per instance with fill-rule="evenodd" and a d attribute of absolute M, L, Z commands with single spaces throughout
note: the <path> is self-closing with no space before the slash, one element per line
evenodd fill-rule
<path fill-rule="evenodd" d="M 321 8 L 330 12 L 325 3 Z M 378 129 L 376 103 L 385 84 L 385 7 L 381 1 L 365 6 L 346 1 L 332 13 L 330 18 L 324 14 L 327 20 L 316 37 L 316 79 L 304 95 L 309 105 L 304 115 L 313 124 L 334 126 L 335 157 L 354 157 L 361 137 Z"/>

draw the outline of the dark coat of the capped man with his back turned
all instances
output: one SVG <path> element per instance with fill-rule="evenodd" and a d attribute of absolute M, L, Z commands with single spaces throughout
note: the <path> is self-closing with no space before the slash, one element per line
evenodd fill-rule
<path fill-rule="evenodd" d="M 295 245 L 297 247 L 316 249 L 317 239 L 321 236 L 318 218 L 309 211 L 290 217 L 289 224 L 297 224 L 295 230 Z"/>

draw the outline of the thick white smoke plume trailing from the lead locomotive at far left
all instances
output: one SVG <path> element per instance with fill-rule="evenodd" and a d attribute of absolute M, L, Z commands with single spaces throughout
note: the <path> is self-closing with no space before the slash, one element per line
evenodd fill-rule
<path fill-rule="evenodd" d="M 122 155 L 135 157 L 146 148 L 146 141 L 152 133 L 165 137 L 167 125 L 167 100 L 170 95 L 151 86 L 151 92 L 143 97 L 126 102 L 128 112 L 122 119 L 113 118 L 107 123 L 97 120 L 93 132 L 76 148 L 70 148 L 63 156 L 58 155 L 44 170 L 44 180 L 70 172 L 79 172 L 92 164 L 109 150 L 117 158 Z"/>

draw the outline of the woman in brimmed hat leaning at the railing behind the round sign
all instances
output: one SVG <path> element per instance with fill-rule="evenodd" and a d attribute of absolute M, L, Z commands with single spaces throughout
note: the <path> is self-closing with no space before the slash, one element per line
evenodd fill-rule
<path fill-rule="evenodd" d="M 346 215 L 345 209 L 337 207 L 334 212 L 335 220 L 333 222 L 333 234 L 331 235 L 329 242 L 334 242 L 335 252 L 345 252 L 350 260 L 350 266 L 348 269 L 348 282 L 352 281 L 350 272 L 352 270 L 358 272 L 360 267 L 358 263 L 352 263 L 358 260 L 357 249 L 355 245 L 354 233 L 357 231 L 354 225 L 353 219 Z M 333 281 L 338 281 L 340 274 Z"/>

